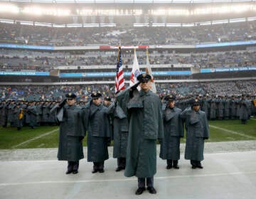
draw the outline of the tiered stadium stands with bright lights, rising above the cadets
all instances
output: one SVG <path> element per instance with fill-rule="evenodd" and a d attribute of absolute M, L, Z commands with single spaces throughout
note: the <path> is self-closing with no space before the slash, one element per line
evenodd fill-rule
<path fill-rule="evenodd" d="M 255 95 L 254 1 L 4 1 L 0 25 L 2 99 L 113 97 L 118 46 L 127 84 L 148 49 L 159 94 Z"/>

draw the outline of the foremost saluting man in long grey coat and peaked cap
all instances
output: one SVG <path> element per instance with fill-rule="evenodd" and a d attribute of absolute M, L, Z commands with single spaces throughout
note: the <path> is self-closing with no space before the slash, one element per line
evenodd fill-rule
<path fill-rule="evenodd" d="M 136 195 L 145 190 L 156 193 L 154 174 L 156 173 L 156 139 L 162 139 L 164 126 L 159 96 L 149 90 L 151 76 L 141 74 L 134 86 L 119 92 L 120 107 L 129 115 L 127 163 L 124 176 L 138 178 Z M 137 91 L 140 85 L 141 90 Z M 127 111 L 128 110 L 128 111 Z"/>

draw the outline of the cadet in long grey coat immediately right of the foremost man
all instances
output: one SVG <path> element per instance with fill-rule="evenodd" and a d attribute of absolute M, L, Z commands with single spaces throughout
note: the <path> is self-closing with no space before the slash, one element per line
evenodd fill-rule
<path fill-rule="evenodd" d="M 160 158 L 167 159 L 166 169 L 178 169 L 180 159 L 180 139 L 184 136 L 183 122 L 179 117 L 181 109 L 175 107 L 175 95 L 164 97 L 167 106 L 164 109 L 164 139 L 161 141 Z M 164 106 L 163 106 L 164 108 Z"/>

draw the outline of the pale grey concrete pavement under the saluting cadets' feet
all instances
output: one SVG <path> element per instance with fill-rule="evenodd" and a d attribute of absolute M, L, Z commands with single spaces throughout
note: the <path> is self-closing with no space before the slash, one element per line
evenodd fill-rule
<path fill-rule="evenodd" d="M 216 153 L 209 152 L 207 148 L 213 145 L 206 144 L 203 169 L 191 169 L 183 154 L 179 170 L 166 170 L 166 161 L 158 158 L 154 176 L 156 195 L 147 190 L 135 195 L 137 178 L 124 177 L 123 171 L 115 172 L 117 160 L 114 158 L 105 161 L 105 173 L 92 174 L 92 163 L 87 163 L 85 158 L 80 161 L 78 174 L 66 175 L 67 162 L 57 161 L 51 155 L 44 160 L 26 160 L 15 158 L 26 149 L 0 150 L 0 198 L 255 198 L 256 141 L 250 144 L 252 147 L 247 151 L 225 152 L 224 149 Z M 40 156 L 43 149 L 38 151 Z M 13 160 L 4 158 L 8 153 L 14 153 Z"/>

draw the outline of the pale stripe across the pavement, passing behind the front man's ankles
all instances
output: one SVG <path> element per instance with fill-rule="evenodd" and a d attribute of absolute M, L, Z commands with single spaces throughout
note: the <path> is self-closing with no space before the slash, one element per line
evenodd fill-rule
<path fill-rule="evenodd" d="M 159 176 L 154 177 L 155 179 L 165 180 L 171 178 L 204 178 L 204 177 L 215 177 L 215 176 L 236 176 L 236 175 L 250 175 L 256 174 L 256 171 L 250 172 L 232 172 L 232 173 L 208 173 L 199 175 L 181 175 L 181 176 Z M 122 181 L 137 181 L 137 178 L 117 178 L 117 179 L 102 179 L 102 180 L 85 180 L 85 181 L 37 181 L 37 182 L 23 182 L 23 183 L 0 183 L 0 187 L 14 186 L 14 185 L 41 185 L 41 184 L 67 184 L 67 183 L 102 183 L 102 182 L 122 182 Z"/>

